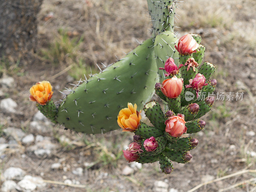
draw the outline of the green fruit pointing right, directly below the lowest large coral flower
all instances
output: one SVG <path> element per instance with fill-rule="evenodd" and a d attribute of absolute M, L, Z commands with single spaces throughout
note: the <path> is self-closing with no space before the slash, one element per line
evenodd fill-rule
<path fill-rule="evenodd" d="M 179 138 L 174 143 L 167 143 L 166 147 L 175 151 L 189 151 L 192 149 L 190 139 L 192 137 Z"/>

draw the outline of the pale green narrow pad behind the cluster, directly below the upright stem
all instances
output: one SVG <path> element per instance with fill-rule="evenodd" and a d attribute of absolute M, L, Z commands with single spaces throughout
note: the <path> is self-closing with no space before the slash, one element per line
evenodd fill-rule
<path fill-rule="evenodd" d="M 165 61 L 171 57 L 174 59 L 174 63 L 179 66 L 179 52 L 174 48 L 175 44 L 178 42 L 177 37 L 171 31 L 164 31 L 156 36 L 154 49 L 156 53 L 156 64 L 157 68 L 163 67 Z M 160 82 L 162 82 L 166 77 L 164 76 L 165 70 L 158 70 Z"/>

